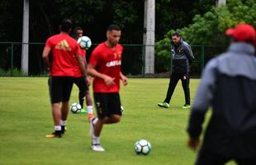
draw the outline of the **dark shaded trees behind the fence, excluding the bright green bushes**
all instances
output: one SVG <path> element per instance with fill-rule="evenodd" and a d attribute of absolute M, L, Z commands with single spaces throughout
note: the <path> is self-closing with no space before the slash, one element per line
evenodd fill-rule
<path fill-rule="evenodd" d="M 205 13 L 214 4 L 215 0 L 155 1 L 156 40 L 162 39 L 170 28 L 183 28 L 192 23 L 192 17 L 195 14 Z M 21 42 L 22 8 L 23 1 L 3 0 L 0 3 L 1 41 Z M 121 26 L 122 44 L 141 45 L 144 35 L 144 15 L 144 0 L 34 0 L 30 1 L 29 40 L 43 44 L 50 35 L 59 33 L 59 22 L 63 18 L 70 18 L 73 21 L 73 26 L 83 27 L 84 34 L 92 39 L 92 44 L 106 40 L 107 26 L 115 23 Z M 135 54 L 142 55 L 141 51 Z M 20 57 L 21 54 L 17 54 L 17 56 Z M 31 50 L 30 47 L 29 64 L 34 64 L 33 74 L 43 68 L 41 60 L 38 60 L 40 56 L 41 49 Z M 14 64 L 20 65 L 19 59 L 21 58 L 15 59 L 17 61 Z M 5 60 L 7 59 L 2 58 L 1 68 L 3 68 L 3 64 L 6 64 Z M 15 67 L 19 68 L 19 66 Z M 134 73 L 140 73 L 140 68 L 135 65 L 132 70 L 135 71 Z M 29 72 L 31 73 L 31 70 Z"/>

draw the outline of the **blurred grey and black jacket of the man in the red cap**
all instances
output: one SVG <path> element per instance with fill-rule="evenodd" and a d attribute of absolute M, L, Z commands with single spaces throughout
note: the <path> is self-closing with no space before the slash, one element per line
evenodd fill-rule
<path fill-rule="evenodd" d="M 229 158 L 256 157 L 256 57 L 254 47 L 233 43 L 206 65 L 192 106 L 188 134 L 199 137 L 212 114 L 202 148 Z"/>

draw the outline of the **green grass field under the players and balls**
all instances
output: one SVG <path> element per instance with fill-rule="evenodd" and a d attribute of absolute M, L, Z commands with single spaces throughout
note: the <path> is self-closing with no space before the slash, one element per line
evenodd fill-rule
<path fill-rule="evenodd" d="M 191 80 L 192 101 L 199 80 Z M 89 124 L 84 114 L 69 114 L 68 130 L 62 139 L 46 139 L 53 131 L 47 78 L 0 78 L 0 164 L 98 164 L 98 165 L 191 165 L 196 158 L 187 148 L 188 110 L 183 110 L 179 82 L 171 107 L 157 106 L 165 97 L 168 78 L 130 78 L 121 87 L 125 108 L 121 123 L 104 125 L 104 153 L 92 152 Z M 92 90 L 91 90 L 92 91 Z M 78 101 L 73 87 L 71 102 Z M 152 152 L 138 156 L 134 144 L 148 139 Z M 229 165 L 235 163 L 227 163 Z"/>

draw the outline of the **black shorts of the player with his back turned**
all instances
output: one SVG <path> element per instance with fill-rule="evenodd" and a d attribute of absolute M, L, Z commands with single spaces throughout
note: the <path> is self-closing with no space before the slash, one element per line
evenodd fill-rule
<path fill-rule="evenodd" d="M 49 78 L 48 85 L 51 103 L 69 101 L 73 87 L 72 77 L 53 76 Z"/>

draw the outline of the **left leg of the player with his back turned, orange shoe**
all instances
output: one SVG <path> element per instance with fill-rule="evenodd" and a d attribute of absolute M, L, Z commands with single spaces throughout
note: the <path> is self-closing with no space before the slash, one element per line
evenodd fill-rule
<path fill-rule="evenodd" d="M 55 132 L 52 134 L 47 134 L 47 138 L 61 138 L 61 111 L 60 111 L 60 101 L 62 95 L 63 84 L 58 77 L 50 77 L 48 80 L 49 92 L 50 92 L 50 102 L 52 106 L 52 115 L 54 120 Z"/>

